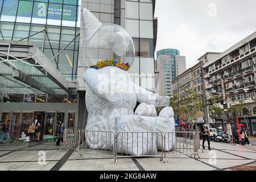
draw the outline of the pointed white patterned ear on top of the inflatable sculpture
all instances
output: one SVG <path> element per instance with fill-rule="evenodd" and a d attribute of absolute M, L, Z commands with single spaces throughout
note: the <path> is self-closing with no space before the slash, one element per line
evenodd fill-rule
<path fill-rule="evenodd" d="M 86 8 L 82 9 L 82 27 L 84 30 L 84 40 L 90 39 L 101 26 L 101 22 Z"/>

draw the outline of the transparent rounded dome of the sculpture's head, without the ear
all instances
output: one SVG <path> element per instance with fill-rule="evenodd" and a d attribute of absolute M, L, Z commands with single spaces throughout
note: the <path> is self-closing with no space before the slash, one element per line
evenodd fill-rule
<path fill-rule="evenodd" d="M 82 40 L 82 66 L 90 67 L 97 61 L 114 59 L 121 64 L 133 64 L 135 49 L 131 36 L 117 24 L 102 24 L 89 40 Z"/>

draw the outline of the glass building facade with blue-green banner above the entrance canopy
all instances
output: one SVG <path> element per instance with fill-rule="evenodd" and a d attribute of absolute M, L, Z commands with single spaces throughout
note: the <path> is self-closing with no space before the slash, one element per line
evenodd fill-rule
<path fill-rule="evenodd" d="M 79 0 L 0 0 L 0 40 L 35 43 L 52 59 L 76 37 L 52 60 L 67 80 L 76 80 L 80 11 Z"/>

